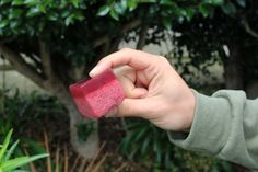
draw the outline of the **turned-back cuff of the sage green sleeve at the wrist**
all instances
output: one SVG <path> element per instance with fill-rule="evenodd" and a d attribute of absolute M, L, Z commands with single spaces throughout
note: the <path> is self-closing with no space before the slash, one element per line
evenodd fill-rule
<path fill-rule="evenodd" d="M 184 149 L 216 156 L 225 145 L 231 125 L 228 102 L 222 98 L 206 96 L 192 90 L 196 110 L 189 133 L 168 131 L 172 142 Z"/>

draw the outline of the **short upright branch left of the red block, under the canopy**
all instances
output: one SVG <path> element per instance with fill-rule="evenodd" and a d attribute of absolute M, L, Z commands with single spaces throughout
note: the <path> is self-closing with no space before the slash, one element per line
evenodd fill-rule
<path fill-rule="evenodd" d="M 54 77 L 50 51 L 46 43 L 43 41 L 39 41 L 39 51 L 44 74 L 46 78 Z"/>

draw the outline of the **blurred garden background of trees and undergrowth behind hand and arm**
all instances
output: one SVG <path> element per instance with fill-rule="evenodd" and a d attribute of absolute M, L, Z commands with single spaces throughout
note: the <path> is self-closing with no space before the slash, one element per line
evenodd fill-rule
<path fill-rule="evenodd" d="M 124 47 L 165 56 L 187 83 L 258 95 L 255 0 L 0 0 L 0 141 L 50 156 L 31 172 L 246 172 L 183 150 L 139 118 L 82 118 L 68 87 Z"/>

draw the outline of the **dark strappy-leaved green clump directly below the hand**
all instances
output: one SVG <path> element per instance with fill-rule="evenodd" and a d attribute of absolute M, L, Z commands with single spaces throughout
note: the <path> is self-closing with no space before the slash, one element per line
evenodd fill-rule
<path fill-rule="evenodd" d="M 130 122 L 127 125 L 127 130 L 129 134 L 122 140 L 121 151 L 128 158 L 141 160 L 150 158 L 151 163 L 162 167 L 165 157 L 169 157 L 168 154 L 172 153 L 172 145 L 166 131 L 151 123 L 144 121 Z M 171 169 L 171 165 L 172 163 L 167 164 L 166 169 Z"/>

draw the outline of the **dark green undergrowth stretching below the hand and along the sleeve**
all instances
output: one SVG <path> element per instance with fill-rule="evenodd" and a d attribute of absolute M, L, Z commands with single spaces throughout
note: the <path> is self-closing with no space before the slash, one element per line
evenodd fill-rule
<path fill-rule="evenodd" d="M 153 171 L 232 172 L 228 163 L 198 156 L 169 142 L 167 133 L 145 121 L 129 121 L 121 152 Z"/>

